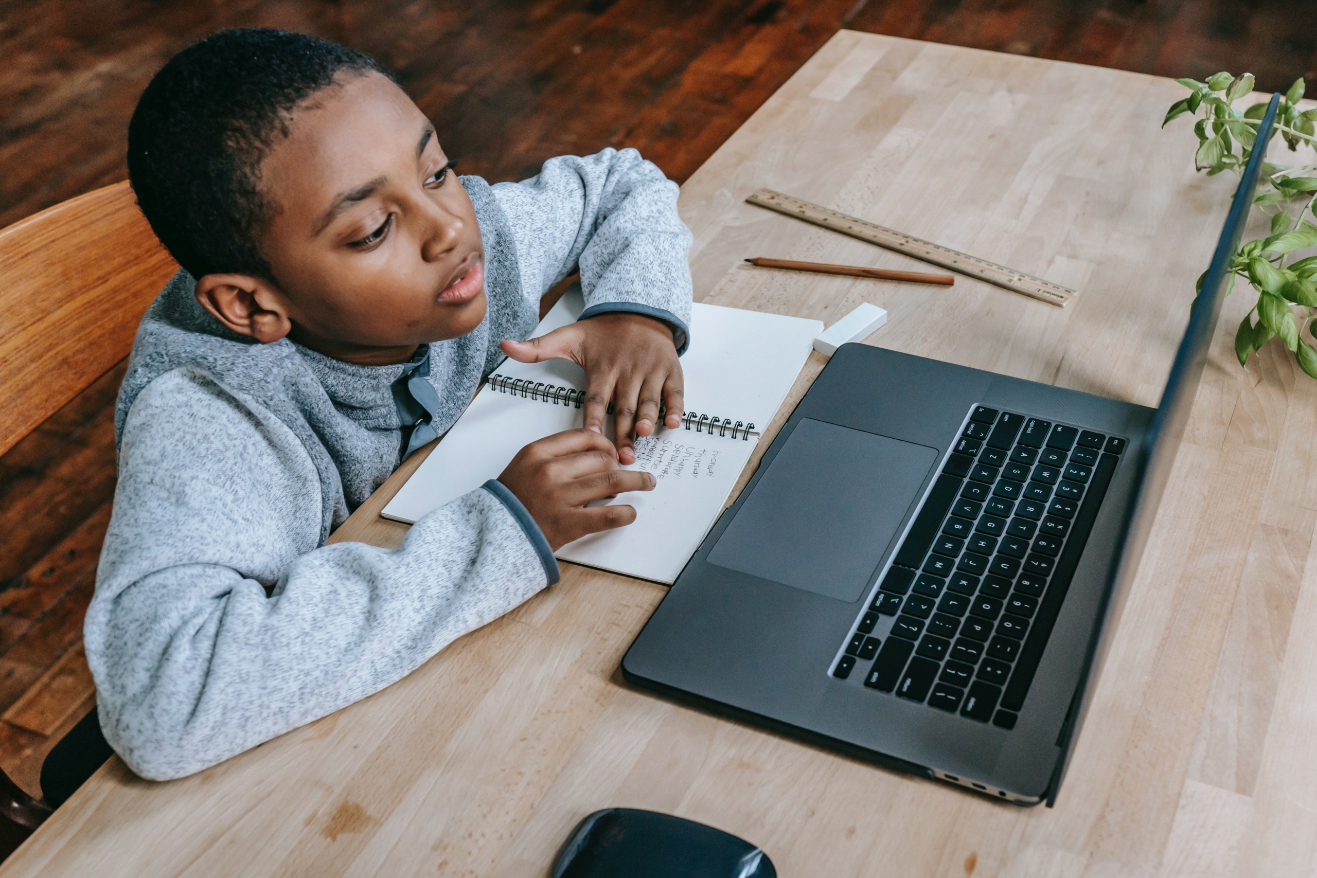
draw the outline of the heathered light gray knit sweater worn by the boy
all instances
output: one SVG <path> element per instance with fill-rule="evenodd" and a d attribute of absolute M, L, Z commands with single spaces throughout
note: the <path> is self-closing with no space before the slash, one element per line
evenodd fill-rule
<path fill-rule="evenodd" d="M 140 775 L 191 774 L 360 700 L 557 579 L 544 536 L 497 482 L 427 515 L 398 549 L 324 545 L 400 462 L 399 387 L 428 382 L 429 428 L 445 430 L 500 361 L 498 342 L 525 338 L 574 266 L 582 317 L 657 316 L 685 348 L 690 233 L 677 187 L 635 150 L 551 159 L 522 183 L 461 182 L 489 313 L 431 344 L 424 376 L 233 334 L 183 272 L 142 319 L 84 631 L 101 728 Z"/>

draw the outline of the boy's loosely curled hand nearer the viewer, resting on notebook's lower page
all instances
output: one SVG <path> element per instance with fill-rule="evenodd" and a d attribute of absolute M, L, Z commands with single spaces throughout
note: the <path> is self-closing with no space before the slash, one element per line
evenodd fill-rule
<path fill-rule="evenodd" d="M 587 533 L 620 528 L 636 520 L 636 508 L 611 504 L 586 508 L 591 500 L 626 491 L 652 491 L 649 473 L 623 470 L 612 442 L 595 430 L 566 430 L 531 442 L 499 474 L 557 552 Z"/>

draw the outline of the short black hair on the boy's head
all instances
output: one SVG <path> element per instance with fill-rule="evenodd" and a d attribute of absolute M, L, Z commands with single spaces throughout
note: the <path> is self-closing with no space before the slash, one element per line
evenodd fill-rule
<path fill-rule="evenodd" d="M 128 179 L 188 274 L 271 278 L 261 162 L 288 136 L 296 105 L 345 71 L 392 79 L 362 51 L 270 28 L 220 30 L 151 78 L 128 124 Z"/>

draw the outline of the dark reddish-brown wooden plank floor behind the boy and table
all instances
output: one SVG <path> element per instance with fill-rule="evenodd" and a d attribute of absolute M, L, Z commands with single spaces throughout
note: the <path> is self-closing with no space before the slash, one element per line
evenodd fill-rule
<path fill-rule="evenodd" d="M 151 74 L 225 26 L 365 49 L 464 174 L 636 146 L 684 180 L 839 28 L 1168 76 L 1250 70 L 1317 92 L 1313 0 L 7 0 L 0 226 L 121 180 Z M 36 790 L 91 704 L 80 652 L 115 486 L 121 369 L 0 458 L 0 767 Z"/>

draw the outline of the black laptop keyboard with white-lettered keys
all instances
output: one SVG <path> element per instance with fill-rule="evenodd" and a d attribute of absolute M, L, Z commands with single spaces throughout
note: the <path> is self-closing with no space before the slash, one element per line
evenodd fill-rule
<path fill-rule="evenodd" d="M 1014 728 L 1125 446 L 976 405 L 832 675 Z"/>

